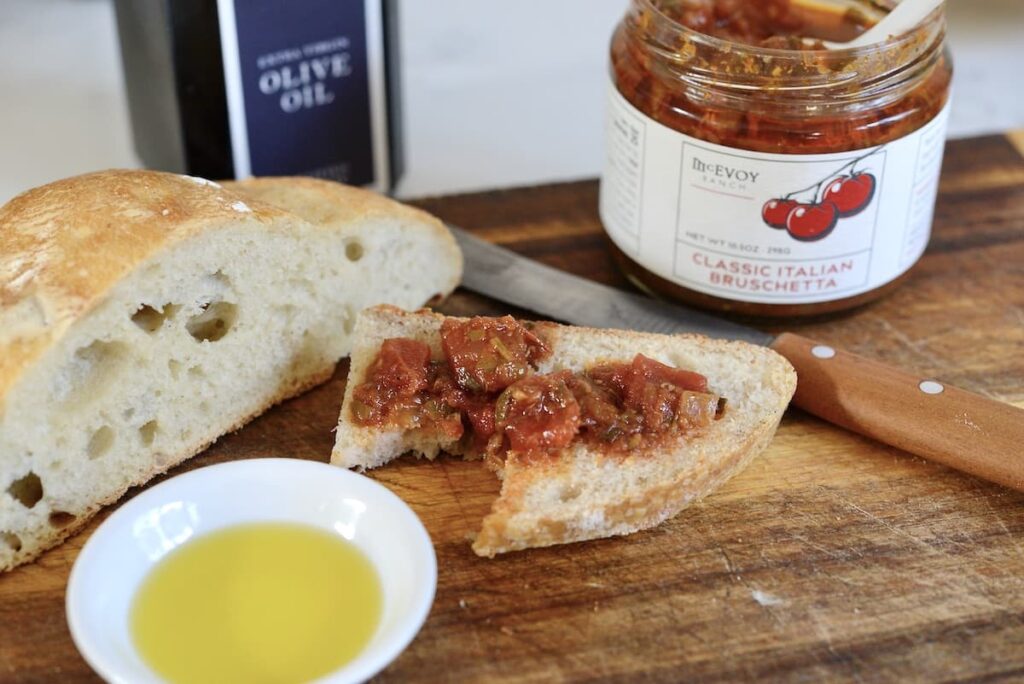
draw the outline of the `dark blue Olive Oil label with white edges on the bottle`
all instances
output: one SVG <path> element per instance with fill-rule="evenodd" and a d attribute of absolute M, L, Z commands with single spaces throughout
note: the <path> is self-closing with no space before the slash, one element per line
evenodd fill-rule
<path fill-rule="evenodd" d="M 379 1 L 218 8 L 236 175 L 386 186 Z"/>

